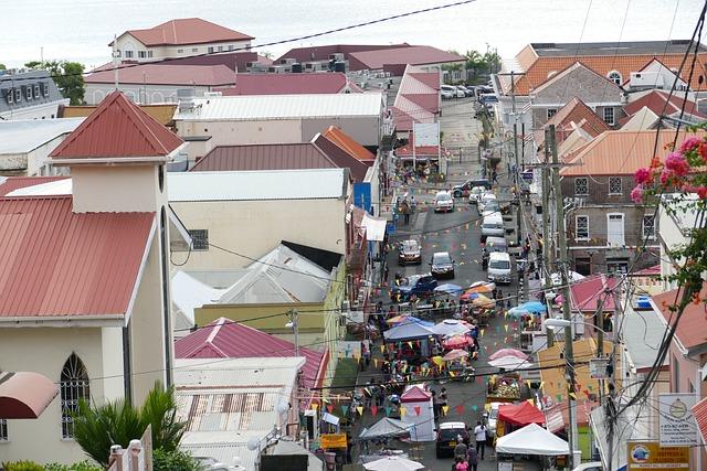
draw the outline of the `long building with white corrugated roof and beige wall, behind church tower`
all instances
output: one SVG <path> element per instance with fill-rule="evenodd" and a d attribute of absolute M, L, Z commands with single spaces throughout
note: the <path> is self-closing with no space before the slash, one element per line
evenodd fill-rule
<path fill-rule="evenodd" d="M 365 147 L 383 135 L 383 94 L 257 95 L 197 98 L 179 104 L 177 132 L 211 136 L 212 147 L 309 142 L 336 126 Z"/>

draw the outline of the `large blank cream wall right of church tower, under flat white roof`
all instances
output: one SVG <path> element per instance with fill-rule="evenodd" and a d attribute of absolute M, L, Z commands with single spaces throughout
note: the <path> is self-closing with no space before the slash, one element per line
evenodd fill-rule
<path fill-rule="evenodd" d="M 172 202 L 189 229 L 209 243 L 258 258 L 281 240 L 345 254 L 344 200 Z M 184 269 L 241 268 L 252 260 L 222 250 L 192 250 Z"/>

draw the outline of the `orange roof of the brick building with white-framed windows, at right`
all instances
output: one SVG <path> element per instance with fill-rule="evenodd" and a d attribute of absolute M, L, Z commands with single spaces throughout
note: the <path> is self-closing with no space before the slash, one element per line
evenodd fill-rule
<path fill-rule="evenodd" d="M 658 136 L 655 144 L 656 133 Z M 705 136 L 680 131 L 677 142 L 688 136 Z M 648 167 L 651 159 L 664 159 L 668 151 L 665 146 L 673 143 L 675 130 L 661 131 L 605 131 L 594 138 L 581 150 L 572 153 L 572 162 L 578 165 L 566 167 L 560 170 L 562 176 L 584 175 L 633 175 L 640 168 Z M 656 150 L 657 149 L 657 150 Z"/>

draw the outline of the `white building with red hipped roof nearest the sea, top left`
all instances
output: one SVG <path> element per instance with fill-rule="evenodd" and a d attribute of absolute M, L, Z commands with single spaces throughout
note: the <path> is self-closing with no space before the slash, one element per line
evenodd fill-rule
<path fill-rule="evenodd" d="M 250 50 L 253 39 L 200 18 L 182 18 L 147 30 L 128 30 L 108 45 L 120 61 L 147 62 Z"/>

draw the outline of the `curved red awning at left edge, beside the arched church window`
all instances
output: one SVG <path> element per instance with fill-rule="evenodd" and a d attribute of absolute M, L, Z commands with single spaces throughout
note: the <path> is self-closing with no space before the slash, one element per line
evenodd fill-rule
<path fill-rule="evenodd" d="M 0 418 L 35 419 L 57 394 L 59 387 L 39 373 L 0 373 Z"/>

